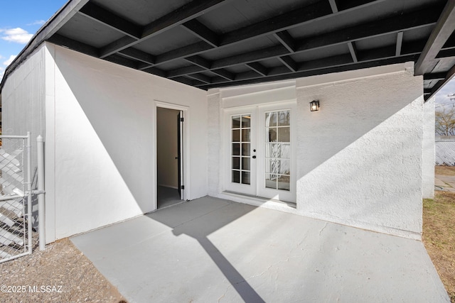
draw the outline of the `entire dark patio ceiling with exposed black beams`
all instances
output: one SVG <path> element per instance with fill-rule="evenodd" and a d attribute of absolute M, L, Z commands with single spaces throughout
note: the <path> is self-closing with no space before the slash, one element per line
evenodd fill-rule
<path fill-rule="evenodd" d="M 201 89 L 414 61 L 431 97 L 455 73 L 455 0 L 70 0 L 43 40 Z"/>

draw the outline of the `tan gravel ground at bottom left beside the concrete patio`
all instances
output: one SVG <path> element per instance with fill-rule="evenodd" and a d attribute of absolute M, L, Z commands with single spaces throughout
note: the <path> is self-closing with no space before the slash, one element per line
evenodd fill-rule
<path fill-rule="evenodd" d="M 126 302 L 67 238 L 0 263 L 0 302 Z"/>

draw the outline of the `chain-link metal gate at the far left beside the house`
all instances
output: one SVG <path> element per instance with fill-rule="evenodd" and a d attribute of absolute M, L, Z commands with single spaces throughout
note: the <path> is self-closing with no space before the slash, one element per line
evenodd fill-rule
<path fill-rule="evenodd" d="M 32 252 L 33 229 L 30 133 L 0 140 L 1 263 Z"/>

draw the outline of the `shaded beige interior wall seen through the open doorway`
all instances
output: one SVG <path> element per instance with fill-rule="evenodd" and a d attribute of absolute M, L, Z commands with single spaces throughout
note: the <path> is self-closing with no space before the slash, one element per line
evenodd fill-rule
<path fill-rule="evenodd" d="M 156 162 L 158 184 L 165 187 L 178 187 L 178 138 L 175 109 L 156 108 Z"/>

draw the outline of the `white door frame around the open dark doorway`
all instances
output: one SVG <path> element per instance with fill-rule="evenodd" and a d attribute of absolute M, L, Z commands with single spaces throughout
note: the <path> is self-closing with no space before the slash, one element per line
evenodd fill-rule
<path fill-rule="evenodd" d="M 182 111 L 183 112 L 183 132 L 181 133 L 182 136 L 182 150 L 183 152 L 181 153 L 183 157 L 183 167 L 181 167 L 181 170 L 183 170 L 182 174 L 182 179 L 183 179 L 183 185 L 185 186 L 185 189 L 183 189 L 183 197 L 181 199 L 183 201 L 186 201 L 190 197 L 190 165 L 189 165 L 189 159 L 190 159 L 190 130 L 188 126 L 188 121 L 190 120 L 190 108 L 188 106 L 182 106 L 178 104 L 172 104 L 164 101 L 159 101 L 159 100 L 154 100 L 154 150 L 153 150 L 153 163 L 154 163 L 154 199 L 153 199 L 153 210 L 155 211 L 158 209 L 158 169 L 156 166 L 156 161 L 157 161 L 157 152 L 156 152 L 156 138 L 157 138 L 157 127 L 156 127 L 156 122 L 158 121 L 157 119 L 157 108 L 164 108 L 164 109 L 174 109 L 176 111 Z"/>

